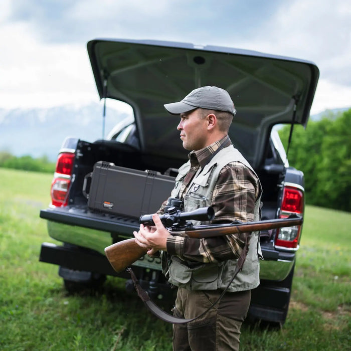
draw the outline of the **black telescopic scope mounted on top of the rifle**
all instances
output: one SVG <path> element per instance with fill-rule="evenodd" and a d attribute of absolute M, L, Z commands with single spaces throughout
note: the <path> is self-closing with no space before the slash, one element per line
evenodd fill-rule
<path fill-rule="evenodd" d="M 174 223 L 181 221 L 211 221 L 215 217 L 215 211 L 212 207 L 201 207 L 200 209 L 181 212 L 180 210 L 170 207 L 167 213 L 160 215 L 159 218 L 165 227 L 171 227 Z M 144 226 L 154 226 L 152 215 L 143 215 L 140 217 L 140 223 Z"/>

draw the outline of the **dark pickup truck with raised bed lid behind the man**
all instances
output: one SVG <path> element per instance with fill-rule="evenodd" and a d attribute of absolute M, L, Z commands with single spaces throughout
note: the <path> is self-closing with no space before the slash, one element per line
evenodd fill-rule
<path fill-rule="evenodd" d="M 238 112 L 229 135 L 260 178 L 262 220 L 294 213 L 303 216 L 304 175 L 289 166 L 275 126 L 288 123 L 291 131 L 294 124 L 306 126 L 319 77 L 314 63 L 164 41 L 95 39 L 87 43 L 87 50 L 100 99 L 127 103 L 133 115 L 104 139 L 67 138 L 58 153 L 52 203 L 40 217 L 47 220 L 49 236 L 62 245 L 43 243 L 40 261 L 59 266 L 68 291 L 99 287 L 107 275 L 125 278 L 127 291 L 133 290 L 128 273 L 112 269 L 104 248 L 132 237 L 139 215 L 145 212 L 128 214 L 123 209 L 139 209 L 142 195 L 132 191 L 128 195 L 132 181 L 112 186 L 109 194 L 121 210 L 109 212 L 113 204 L 108 199 L 105 209 L 96 208 L 90 196 L 103 187 L 93 182 L 92 174 L 96 164 L 152 171 L 165 177 L 171 189 L 188 156 L 179 140 L 178 118 L 169 116 L 163 104 L 180 101 L 199 86 L 222 87 L 235 103 Z M 115 182 L 119 184 L 118 179 Z M 163 194 L 156 187 L 152 194 L 166 200 L 168 191 L 162 190 Z M 152 213 L 158 208 L 147 209 Z M 261 232 L 264 260 L 261 283 L 252 292 L 252 320 L 284 323 L 301 231 L 302 226 L 296 226 Z M 133 270 L 153 299 L 171 298 L 173 290 L 160 271 L 159 259 L 145 256 L 133 264 Z"/>

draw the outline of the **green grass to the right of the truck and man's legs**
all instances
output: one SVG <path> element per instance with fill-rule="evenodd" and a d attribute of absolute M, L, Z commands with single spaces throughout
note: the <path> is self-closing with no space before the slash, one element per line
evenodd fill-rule
<path fill-rule="evenodd" d="M 241 350 L 345 350 L 351 337 L 351 214 L 307 206 L 287 320 L 244 325 Z"/>

